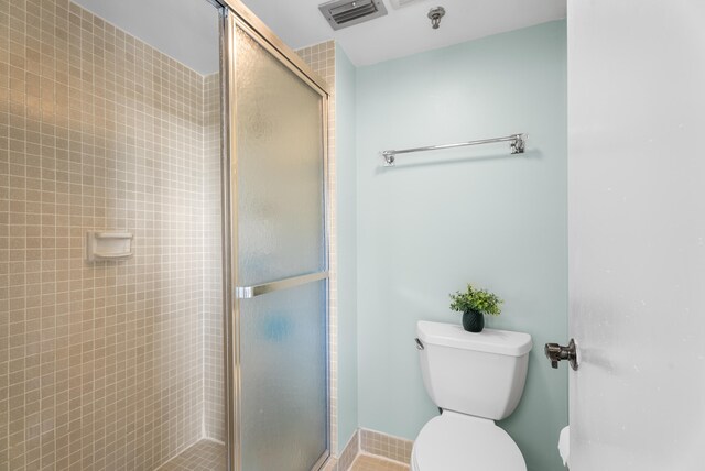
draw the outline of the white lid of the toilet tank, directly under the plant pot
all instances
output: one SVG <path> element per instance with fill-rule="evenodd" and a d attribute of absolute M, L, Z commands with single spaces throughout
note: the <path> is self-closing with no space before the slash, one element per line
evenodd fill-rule
<path fill-rule="evenodd" d="M 427 320 L 416 324 L 416 333 L 423 343 L 509 357 L 522 357 L 532 347 L 529 333 L 497 329 L 474 333 L 465 331 L 463 326 Z"/>

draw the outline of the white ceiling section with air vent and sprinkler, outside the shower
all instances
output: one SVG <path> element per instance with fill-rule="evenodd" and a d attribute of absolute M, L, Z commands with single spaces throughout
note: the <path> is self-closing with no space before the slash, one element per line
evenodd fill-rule
<path fill-rule="evenodd" d="M 383 0 L 387 17 L 333 31 L 318 11 L 324 0 L 242 0 L 289 46 L 300 48 L 336 40 L 355 65 L 457 44 L 505 31 L 565 18 L 565 0 L 417 0 L 400 9 Z M 441 28 L 426 18 L 445 8 Z"/>

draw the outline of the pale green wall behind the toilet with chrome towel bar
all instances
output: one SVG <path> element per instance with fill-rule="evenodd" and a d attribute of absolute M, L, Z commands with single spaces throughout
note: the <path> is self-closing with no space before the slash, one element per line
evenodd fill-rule
<path fill-rule="evenodd" d="M 437 413 L 415 325 L 459 324 L 448 293 L 475 282 L 505 299 L 489 327 L 534 340 L 523 399 L 500 425 L 530 471 L 563 469 L 566 369 L 552 370 L 542 347 L 567 335 L 565 36 L 558 21 L 358 68 L 361 427 L 413 439 Z M 529 134 L 522 156 L 501 144 L 381 166 L 384 149 L 514 132 Z"/>

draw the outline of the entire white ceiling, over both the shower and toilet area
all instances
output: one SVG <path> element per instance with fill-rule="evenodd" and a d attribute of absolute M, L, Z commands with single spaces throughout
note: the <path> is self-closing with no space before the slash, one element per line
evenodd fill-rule
<path fill-rule="evenodd" d="M 206 0 L 73 0 L 200 74 L 218 70 L 218 17 Z M 565 0 L 415 0 L 386 17 L 333 31 L 323 0 L 242 0 L 290 47 L 336 40 L 356 65 L 434 50 L 565 18 Z M 429 10 L 446 15 L 433 30 Z"/>

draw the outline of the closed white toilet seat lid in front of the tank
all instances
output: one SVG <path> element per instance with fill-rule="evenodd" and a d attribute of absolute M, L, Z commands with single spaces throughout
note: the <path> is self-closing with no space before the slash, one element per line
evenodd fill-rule
<path fill-rule="evenodd" d="M 519 447 L 494 421 L 445 410 L 416 437 L 420 471 L 527 471 Z"/>

